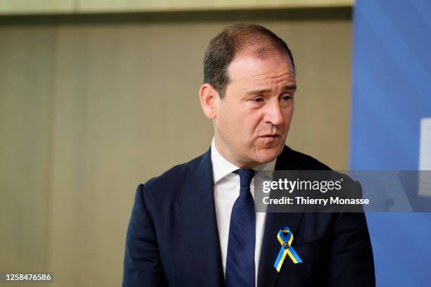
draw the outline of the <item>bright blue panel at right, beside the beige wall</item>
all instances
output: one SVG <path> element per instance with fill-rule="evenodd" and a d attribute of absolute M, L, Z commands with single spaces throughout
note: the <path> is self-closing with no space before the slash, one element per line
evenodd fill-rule
<path fill-rule="evenodd" d="M 356 1 L 351 170 L 417 170 L 431 117 L 431 1 Z M 377 286 L 431 286 L 431 215 L 368 214 Z"/>

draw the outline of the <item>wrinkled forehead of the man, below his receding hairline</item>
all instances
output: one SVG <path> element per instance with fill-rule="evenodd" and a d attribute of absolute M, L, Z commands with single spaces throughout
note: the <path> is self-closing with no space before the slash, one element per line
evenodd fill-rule
<path fill-rule="evenodd" d="M 254 51 L 238 53 L 227 67 L 230 84 L 287 82 L 295 84 L 295 71 L 289 56 L 278 51 L 264 55 Z"/>

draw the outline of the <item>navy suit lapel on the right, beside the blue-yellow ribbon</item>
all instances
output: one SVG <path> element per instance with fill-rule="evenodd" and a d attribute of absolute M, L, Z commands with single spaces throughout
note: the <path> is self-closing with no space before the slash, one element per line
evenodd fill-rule
<path fill-rule="evenodd" d="M 278 156 L 275 170 L 301 170 L 301 162 L 289 157 L 290 149 L 285 149 Z M 274 262 L 280 252 L 281 245 L 277 240 L 277 233 L 282 227 L 289 227 L 296 234 L 304 212 L 268 212 L 261 248 L 261 258 L 258 266 L 258 287 L 274 286 L 278 272 Z M 281 272 L 281 271 L 280 271 Z"/>

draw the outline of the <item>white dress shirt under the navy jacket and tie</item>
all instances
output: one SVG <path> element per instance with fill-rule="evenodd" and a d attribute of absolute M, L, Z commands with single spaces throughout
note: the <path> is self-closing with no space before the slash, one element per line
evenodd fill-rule
<path fill-rule="evenodd" d="M 274 170 L 275 160 L 260 165 L 254 170 Z M 215 216 L 217 217 L 218 236 L 220 237 L 220 248 L 223 262 L 223 274 L 226 274 L 227 239 L 229 238 L 230 215 L 232 207 L 239 196 L 239 175 L 235 170 L 239 167 L 228 162 L 215 148 L 214 139 L 211 143 L 211 162 L 213 163 L 214 179 L 214 201 Z M 254 178 L 250 184 L 251 196 L 254 198 Z M 263 228 L 265 227 L 266 212 L 256 212 L 256 245 L 254 247 L 255 286 L 257 284 L 257 273 L 259 259 L 261 257 L 261 246 L 263 239 Z"/>

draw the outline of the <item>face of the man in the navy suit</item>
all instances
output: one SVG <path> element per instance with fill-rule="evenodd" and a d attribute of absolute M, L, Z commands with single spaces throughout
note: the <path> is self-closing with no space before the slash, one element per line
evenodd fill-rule
<path fill-rule="evenodd" d="M 243 51 L 227 68 L 225 96 L 215 99 L 215 145 L 230 162 L 251 168 L 277 158 L 294 111 L 292 61 L 276 51 Z"/>

